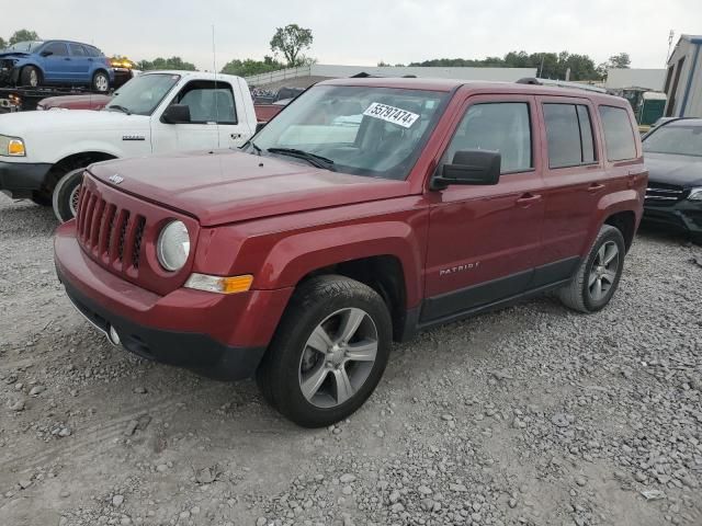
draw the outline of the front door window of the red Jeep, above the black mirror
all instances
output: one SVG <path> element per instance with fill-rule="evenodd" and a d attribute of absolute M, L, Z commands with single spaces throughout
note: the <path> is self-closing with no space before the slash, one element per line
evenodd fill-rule
<path fill-rule="evenodd" d="M 531 170 L 531 121 L 526 102 L 489 102 L 472 105 L 458 124 L 444 162 L 452 162 L 456 151 L 499 151 L 501 172 Z"/>

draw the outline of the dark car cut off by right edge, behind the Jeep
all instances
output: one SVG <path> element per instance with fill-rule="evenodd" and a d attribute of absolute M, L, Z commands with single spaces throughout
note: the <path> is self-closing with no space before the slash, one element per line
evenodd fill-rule
<path fill-rule="evenodd" d="M 702 242 L 702 118 L 665 122 L 643 145 L 649 173 L 644 219 Z"/>

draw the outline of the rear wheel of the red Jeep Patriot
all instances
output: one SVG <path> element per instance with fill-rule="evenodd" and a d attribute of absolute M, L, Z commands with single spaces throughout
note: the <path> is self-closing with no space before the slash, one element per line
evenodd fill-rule
<path fill-rule="evenodd" d="M 616 261 L 612 260 L 609 263 L 609 267 L 603 267 L 603 265 L 599 264 L 601 262 L 600 251 L 602 250 L 609 255 L 612 247 L 616 247 L 618 250 Z M 592 243 L 590 252 L 580 263 L 573 281 L 559 290 L 561 301 L 573 310 L 586 313 L 603 309 L 616 291 L 624 268 L 625 254 L 626 245 L 622 232 L 615 227 L 603 225 Z M 598 264 L 596 265 L 596 263 Z M 612 277 L 605 278 L 605 275 Z M 591 283 L 593 276 L 599 276 L 599 290 L 597 289 L 598 279 Z M 609 284 L 607 290 L 603 290 L 604 284 Z"/>

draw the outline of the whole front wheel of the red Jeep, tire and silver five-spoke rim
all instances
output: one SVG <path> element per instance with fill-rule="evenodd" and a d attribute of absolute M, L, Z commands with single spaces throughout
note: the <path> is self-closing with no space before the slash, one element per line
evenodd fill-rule
<path fill-rule="evenodd" d="M 389 355 L 383 298 L 343 276 L 319 276 L 293 296 L 257 373 L 267 400 L 304 427 L 346 419 L 371 396 Z"/>

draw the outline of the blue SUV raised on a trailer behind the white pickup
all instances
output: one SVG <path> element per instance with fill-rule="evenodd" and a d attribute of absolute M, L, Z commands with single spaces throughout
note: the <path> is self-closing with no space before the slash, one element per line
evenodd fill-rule
<path fill-rule="evenodd" d="M 106 92 L 114 81 L 107 57 L 70 41 L 19 42 L 0 53 L 0 85 L 89 85 Z"/>

